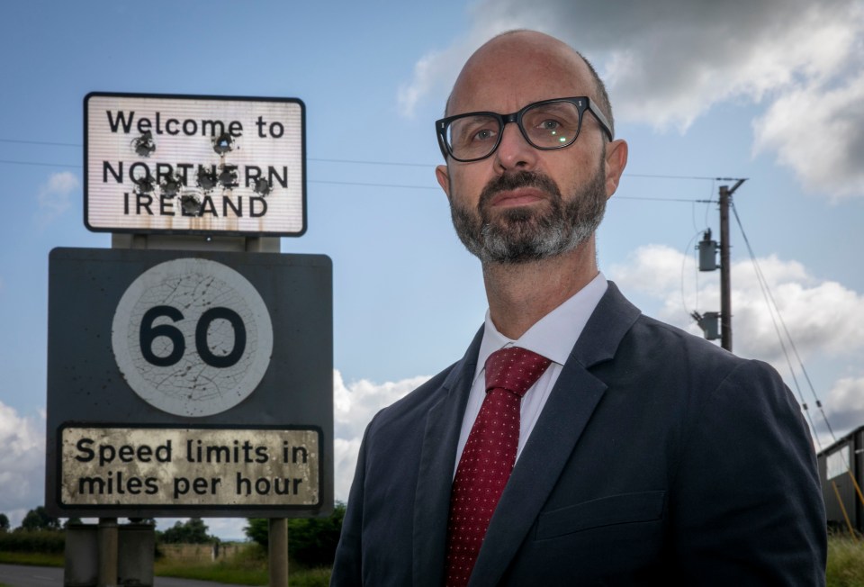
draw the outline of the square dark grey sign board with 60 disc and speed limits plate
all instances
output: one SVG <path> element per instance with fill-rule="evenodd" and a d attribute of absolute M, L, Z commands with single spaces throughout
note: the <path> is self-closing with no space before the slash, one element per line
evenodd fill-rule
<path fill-rule="evenodd" d="M 333 504 L 324 255 L 55 248 L 55 516 L 309 516 Z"/>

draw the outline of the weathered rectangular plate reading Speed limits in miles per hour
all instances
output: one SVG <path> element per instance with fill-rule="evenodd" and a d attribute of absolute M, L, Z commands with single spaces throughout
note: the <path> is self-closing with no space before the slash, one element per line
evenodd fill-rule
<path fill-rule="evenodd" d="M 64 506 L 320 506 L 320 429 L 60 430 Z"/>

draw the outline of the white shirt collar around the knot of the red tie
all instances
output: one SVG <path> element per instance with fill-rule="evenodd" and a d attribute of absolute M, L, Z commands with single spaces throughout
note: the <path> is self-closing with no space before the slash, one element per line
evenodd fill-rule
<path fill-rule="evenodd" d="M 482 373 L 486 359 L 493 352 L 511 346 L 527 348 L 554 363 L 563 365 L 567 357 L 570 357 L 570 351 L 607 288 L 606 277 L 598 273 L 589 284 L 537 321 L 518 340 L 509 339 L 501 334 L 492 323 L 487 310 L 474 379 L 476 380 Z"/>

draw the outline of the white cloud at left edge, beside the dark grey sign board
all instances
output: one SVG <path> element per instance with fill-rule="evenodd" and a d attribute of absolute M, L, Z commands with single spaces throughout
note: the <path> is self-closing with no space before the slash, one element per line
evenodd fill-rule
<path fill-rule="evenodd" d="M 23 418 L 0 402 L 0 512 L 12 528 L 45 492 L 45 419 Z"/>

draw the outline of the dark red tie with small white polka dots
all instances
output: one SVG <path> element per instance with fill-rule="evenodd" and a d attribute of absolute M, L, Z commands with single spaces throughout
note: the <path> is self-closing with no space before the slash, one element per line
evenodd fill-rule
<path fill-rule="evenodd" d="M 525 348 L 501 348 L 486 361 L 486 397 L 456 467 L 447 524 L 448 587 L 468 584 L 492 512 L 519 444 L 522 396 L 549 366 Z"/>

